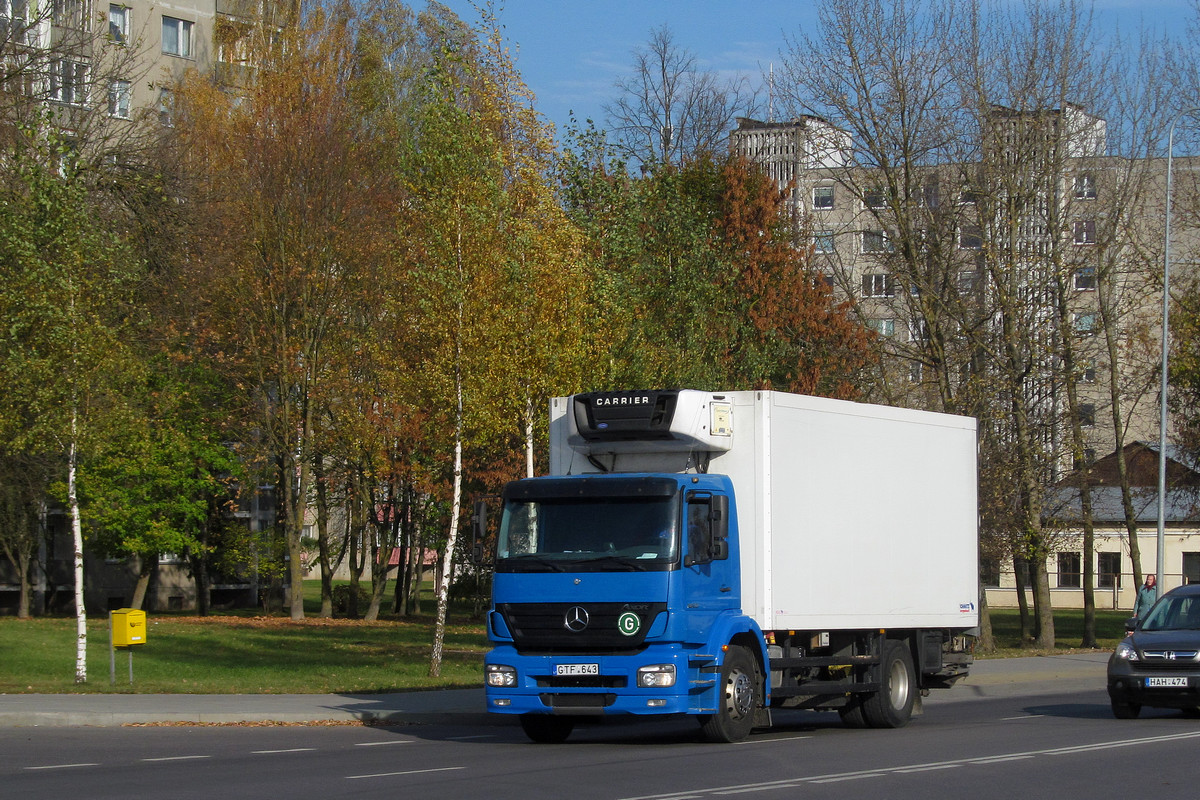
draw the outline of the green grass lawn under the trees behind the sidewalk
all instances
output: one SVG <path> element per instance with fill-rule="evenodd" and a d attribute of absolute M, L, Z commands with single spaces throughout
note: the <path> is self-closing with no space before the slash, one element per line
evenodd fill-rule
<path fill-rule="evenodd" d="M 132 686 L 126 651 L 116 652 L 116 681 L 109 682 L 107 616 L 89 619 L 83 686 L 74 682 L 74 619 L 0 616 L 0 693 L 370 693 L 481 684 L 488 644 L 482 624 L 466 613 L 451 614 L 442 676 L 428 676 L 436 608 L 431 595 L 422 597 L 421 616 L 364 622 L 316 619 L 319 585 L 307 582 L 305 594 L 310 616 L 301 621 L 252 610 L 208 618 L 149 614 L 146 644 L 133 650 Z M 1115 648 L 1128 612 L 1096 616 L 1100 646 Z M 1020 646 L 1015 608 L 991 609 L 991 624 L 996 655 L 1046 655 Z M 1055 632 L 1055 652 L 1076 649 L 1082 610 L 1057 612 Z"/>

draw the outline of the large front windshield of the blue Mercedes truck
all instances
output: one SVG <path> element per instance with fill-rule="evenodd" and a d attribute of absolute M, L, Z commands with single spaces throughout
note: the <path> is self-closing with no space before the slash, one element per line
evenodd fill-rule
<path fill-rule="evenodd" d="M 498 572 L 670 570 L 678 554 L 677 497 L 508 500 Z"/>

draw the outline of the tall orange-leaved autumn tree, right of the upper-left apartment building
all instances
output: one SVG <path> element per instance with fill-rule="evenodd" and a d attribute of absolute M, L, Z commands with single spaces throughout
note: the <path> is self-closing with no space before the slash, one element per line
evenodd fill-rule
<path fill-rule="evenodd" d="M 242 85 L 192 74 L 175 92 L 194 205 L 178 283 L 192 336 L 242 390 L 230 411 L 276 487 L 293 619 L 304 616 L 301 531 L 322 411 L 395 230 L 392 149 L 356 106 L 353 19 L 342 8 L 282 29 L 263 20 Z"/>

